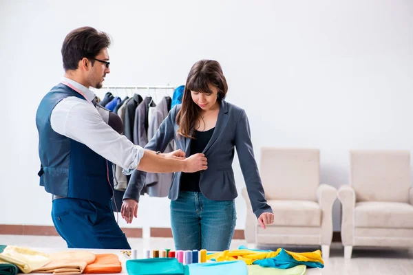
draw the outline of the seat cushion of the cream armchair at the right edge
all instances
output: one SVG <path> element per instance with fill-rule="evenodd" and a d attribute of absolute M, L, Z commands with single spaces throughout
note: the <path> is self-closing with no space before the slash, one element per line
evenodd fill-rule
<path fill-rule="evenodd" d="M 399 202 L 359 202 L 354 209 L 357 228 L 413 228 L 413 206 Z"/>

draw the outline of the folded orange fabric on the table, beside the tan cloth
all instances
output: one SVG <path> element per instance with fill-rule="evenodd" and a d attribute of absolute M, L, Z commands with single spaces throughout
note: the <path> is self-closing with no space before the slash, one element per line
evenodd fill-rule
<path fill-rule="evenodd" d="M 83 273 L 120 273 L 122 264 L 116 254 L 96 254 L 96 260 L 86 266 Z"/>

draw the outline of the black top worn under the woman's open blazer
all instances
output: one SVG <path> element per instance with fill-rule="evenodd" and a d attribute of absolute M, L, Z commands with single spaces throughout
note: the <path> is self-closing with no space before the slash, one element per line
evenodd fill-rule
<path fill-rule="evenodd" d="M 209 140 L 211 140 L 214 129 L 215 128 L 204 132 L 194 131 L 193 135 L 195 140 L 191 140 L 190 155 L 195 155 L 204 151 L 204 148 L 207 147 Z M 199 171 L 195 173 L 182 173 L 180 178 L 180 190 L 201 192 L 200 177 L 201 173 Z"/>

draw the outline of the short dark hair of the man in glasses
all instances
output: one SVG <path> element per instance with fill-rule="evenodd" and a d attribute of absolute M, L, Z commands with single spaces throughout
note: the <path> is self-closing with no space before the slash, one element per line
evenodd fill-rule
<path fill-rule="evenodd" d="M 63 68 L 77 69 L 82 58 L 95 58 L 100 50 L 109 47 L 110 38 L 105 32 L 91 27 L 82 27 L 67 34 L 62 45 Z M 94 60 L 90 60 L 92 66 Z"/>

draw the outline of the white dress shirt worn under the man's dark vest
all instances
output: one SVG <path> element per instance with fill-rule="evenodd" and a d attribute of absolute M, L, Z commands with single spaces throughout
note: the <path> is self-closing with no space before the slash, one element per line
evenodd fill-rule
<path fill-rule="evenodd" d="M 85 144 L 98 155 L 124 168 L 123 173 L 132 173 L 138 167 L 144 149 L 105 123 L 92 103 L 93 91 L 69 78 L 63 77 L 61 83 L 77 91 L 87 101 L 70 96 L 56 104 L 50 116 L 53 131 Z"/>

